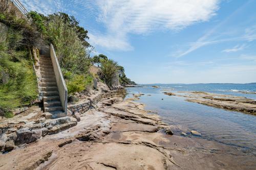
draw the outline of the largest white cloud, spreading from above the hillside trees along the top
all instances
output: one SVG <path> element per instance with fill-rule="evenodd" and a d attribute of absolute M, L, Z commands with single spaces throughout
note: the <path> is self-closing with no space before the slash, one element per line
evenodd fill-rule
<path fill-rule="evenodd" d="M 105 28 L 90 32 L 90 42 L 109 50 L 132 50 L 129 34 L 150 34 L 155 30 L 181 30 L 216 15 L 219 0 L 21 0 L 28 10 L 50 14 L 63 11 L 92 17 Z M 82 12 L 77 13 L 76 11 Z"/>

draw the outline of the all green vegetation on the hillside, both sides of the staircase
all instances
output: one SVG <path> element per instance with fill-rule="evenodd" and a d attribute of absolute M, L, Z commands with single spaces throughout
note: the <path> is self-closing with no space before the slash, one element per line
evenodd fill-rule
<path fill-rule="evenodd" d="M 0 35 L 0 115 L 12 117 L 12 109 L 30 105 L 37 98 L 31 50 L 41 40 L 54 45 L 69 93 L 90 89 L 93 77 L 109 87 L 117 74 L 121 84 L 131 82 L 117 62 L 103 54 L 90 57 L 93 47 L 87 41 L 88 31 L 74 16 L 61 12 L 45 16 L 31 11 L 27 17 L 16 18 L 0 10 L 0 24 L 8 27 L 8 32 Z M 100 76 L 90 74 L 92 64 L 100 68 Z"/>

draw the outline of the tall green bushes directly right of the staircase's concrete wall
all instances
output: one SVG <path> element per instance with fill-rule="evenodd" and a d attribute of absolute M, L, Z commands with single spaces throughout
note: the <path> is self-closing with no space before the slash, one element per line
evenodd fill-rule
<path fill-rule="evenodd" d="M 89 74 L 91 45 L 86 41 L 88 31 L 79 26 L 74 16 L 54 13 L 48 16 L 31 11 L 33 25 L 54 45 L 56 55 L 67 82 L 68 92 L 80 92 L 92 84 Z"/>

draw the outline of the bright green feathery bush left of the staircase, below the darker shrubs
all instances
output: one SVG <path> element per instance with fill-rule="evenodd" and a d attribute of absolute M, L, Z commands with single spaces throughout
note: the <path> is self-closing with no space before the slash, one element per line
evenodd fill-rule
<path fill-rule="evenodd" d="M 0 114 L 11 117 L 11 109 L 29 105 L 37 98 L 37 81 L 32 61 L 22 48 L 23 32 L 9 28 L 0 42 Z"/>

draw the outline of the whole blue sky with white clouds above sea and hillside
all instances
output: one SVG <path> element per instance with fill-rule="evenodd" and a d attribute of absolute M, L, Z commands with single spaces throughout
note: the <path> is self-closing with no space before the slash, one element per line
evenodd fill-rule
<path fill-rule="evenodd" d="M 256 82 L 256 0 L 21 0 L 65 12 L 139 84 Z"/>

